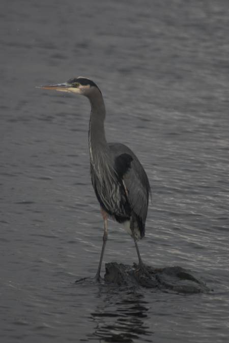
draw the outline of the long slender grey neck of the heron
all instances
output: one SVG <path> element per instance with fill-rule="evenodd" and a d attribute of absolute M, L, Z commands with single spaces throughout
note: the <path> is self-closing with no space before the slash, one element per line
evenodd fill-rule
<path fill-rule="evenodd" d="M 99 150 L 105 151 L 108 148 L 104 129 L 106 115 L 103 97 L 99 89 L 95 89 L 89 97 L 91 103 L 91 117 L 89 123 L 89 148 L 90 157 L 93 162 L 93 155 Z"/>

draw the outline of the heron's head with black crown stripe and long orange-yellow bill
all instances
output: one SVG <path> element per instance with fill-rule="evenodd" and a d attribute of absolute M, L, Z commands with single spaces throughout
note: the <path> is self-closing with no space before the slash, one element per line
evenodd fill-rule
<path fill-rule="evenodd" d="M 42 89 L 55 89 L 69 93 L 76 93 L 89 97 L 93 90 L 98 89 L 98 86 L 90 79 L 85 77 L 72 78 L 64 83 L 49 84 L 46 86 L 39 86 Z"/>

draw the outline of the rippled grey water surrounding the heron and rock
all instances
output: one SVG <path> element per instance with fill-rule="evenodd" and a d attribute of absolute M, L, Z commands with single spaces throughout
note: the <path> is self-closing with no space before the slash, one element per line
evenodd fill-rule
<path fill-rule="evenodd" d="M 228 15 L 226 0 L 1 1 L 1 342 L 228 342 Z M 209 294 L 74 284 L 102 245 L 90 105 L 35 86 L 77 76 L 148 173 L 142 259 Z M 137 262 L 112 222 L 111 261 Z"/>

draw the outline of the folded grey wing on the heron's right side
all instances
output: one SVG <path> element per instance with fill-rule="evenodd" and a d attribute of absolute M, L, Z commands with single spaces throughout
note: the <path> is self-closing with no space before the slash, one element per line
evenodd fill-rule
<path fill-rule="evenodd" d="M 119 169 L 119 175 L 122 177 L 124 186 L 127 190 L 131 209 L 141 218 L 142 223 L 145 225 L 149 194 L 151 193 L 147 174 L 136 155 L 126 145 L 121 143 L 109 143 L 109 148 L 113 155 L 113 159 L 116 162 L 120 156 L 124 156 L 125 154 L 132 158 L 131 162 L 127 163 L 128 168 L 126 168 L 126 170 L 124 170 L 125 168 L 123 169 L 123 173 L 122 168 Z"/>

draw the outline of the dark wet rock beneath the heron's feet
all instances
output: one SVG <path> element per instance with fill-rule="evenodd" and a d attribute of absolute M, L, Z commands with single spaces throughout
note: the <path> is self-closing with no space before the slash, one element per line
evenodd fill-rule
<path fill-rule="evenodd" d="M 205 293 L 209 288 L 182 267 L 153 268 L 142 270 L 138 265 L 128 266 L 116 262 L 106 263 L 105 282 L 120 286 L 142 286 L 171 290 L 178 293 Z"/>

